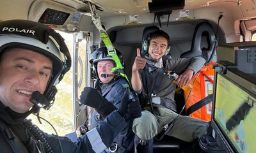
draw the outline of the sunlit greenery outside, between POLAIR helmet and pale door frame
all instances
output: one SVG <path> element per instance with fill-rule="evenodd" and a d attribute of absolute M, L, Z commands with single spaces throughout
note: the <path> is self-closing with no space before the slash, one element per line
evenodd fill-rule
<path fill-rule="evenodd" d="M 72 56 L 73 34 L 59 32 L 65 39 L 70 55 Z M 74 131 L 73 121 L 73 106 L 72 106 L 72 69 L 66 73 L 60 84 L 56 85 L 58 92 L 55 96 L 54 105 L 49 110 L 40 110 L 40 117 L 48 120 L 56 129 L 59 136 L 64 136 L 67 133 Z M 35 115 L 29 115 L 28 119 L 32 119 L 42 131 L 56 135 L 54 129 L 41 120 L 42 124 L 38 122 Z"/>

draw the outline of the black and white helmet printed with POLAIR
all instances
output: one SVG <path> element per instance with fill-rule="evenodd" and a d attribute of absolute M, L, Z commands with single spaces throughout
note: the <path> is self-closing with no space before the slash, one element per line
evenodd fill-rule
<path fill-rule="evenodd" d="M 68 48 L 60 34 L 37 22 L 6 20 L 0 22 L 0 54 L 9 47 L 33 50 L 51 59 L 52 77 L 47 84 L 44 96 L 48 101 L 54 100 L 55 85 L 61 81 L 71 66 Z"/>

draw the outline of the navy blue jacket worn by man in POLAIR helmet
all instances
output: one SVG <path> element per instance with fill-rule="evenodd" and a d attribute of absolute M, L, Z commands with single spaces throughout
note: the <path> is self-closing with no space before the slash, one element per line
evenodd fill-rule
<path fill-rule="evenodd" d="M 0 152 L 38 152 L 35 143 L 36 136 L 28 135 L 28 131 L 31 130 L 31 128 L 26 128 L 28 120 L 19 117 L 18 114 L 15 112 L 10 114 L 10 110 L 6 110 L 0 102 Z M 114 111 L 106 117 L 104 122 L 100 122 L 97 128 L 77 138 L 76 142 L 60 136 L 60 143 L 63 152 L 67 153 L 102 152 L 106 147 L 109 147 L 116 135 L 126 127 L 127 123 L 124 118 Z M 53 152 L 61 152 L 56 135 L 49 135 L 42 131 L 40 133 L 45 136 Z"/>

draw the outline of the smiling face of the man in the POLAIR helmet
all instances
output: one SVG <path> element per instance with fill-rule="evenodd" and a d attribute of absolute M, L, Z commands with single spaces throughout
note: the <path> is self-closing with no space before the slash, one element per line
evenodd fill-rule
<path fill-rule="evenodd" d="M 12 48 L 0 61 L 0 100 L 13 111 L 28 112 L 34 91 L 44 94 L 52 72 L 48 57 L 31 50 Z"/>

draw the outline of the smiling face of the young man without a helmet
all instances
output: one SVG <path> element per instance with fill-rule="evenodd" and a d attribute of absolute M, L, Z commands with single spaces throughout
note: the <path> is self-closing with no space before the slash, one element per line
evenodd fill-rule
<path fill-rule="evenodd" d="M 168 47 L 168 40 L 163 36 L 159 36 L 150 40 L 148 54 L 150 57 L 156 61 L 158 61 L 166 52 L 166 48 Z"/>

